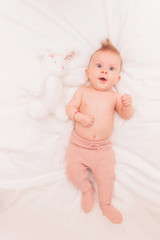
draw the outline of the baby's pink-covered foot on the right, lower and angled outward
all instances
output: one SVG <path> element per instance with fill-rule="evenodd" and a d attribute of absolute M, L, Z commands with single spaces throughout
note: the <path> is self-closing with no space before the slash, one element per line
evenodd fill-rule
<path fill-rule="evenodd" d="M 112 223 L 118 224 L 122 222 L 121 213 L 111 205 L 101 206 L 102 213 L 105 215 Z"/>

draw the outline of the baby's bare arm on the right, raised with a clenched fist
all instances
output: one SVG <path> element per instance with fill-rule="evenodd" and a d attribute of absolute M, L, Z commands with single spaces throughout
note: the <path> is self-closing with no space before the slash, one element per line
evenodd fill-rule
<path fill-rule="evenodd" d="M 131 96 L 128 94 L 121 96 L 117 93 L 116 97 L 116 111 L 122 118 L 130 119 L 134 114 Z"/>

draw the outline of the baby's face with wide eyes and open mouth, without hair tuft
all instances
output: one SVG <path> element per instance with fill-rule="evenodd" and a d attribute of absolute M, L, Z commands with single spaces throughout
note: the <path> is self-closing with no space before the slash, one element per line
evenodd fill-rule
<path fill-rule="evenodd" d="M 98 51 L 92 56 L 87 79 L 92 87 L 99 91 L 107 91 L 120 80 L 121 58 L 110 50 Z"/>

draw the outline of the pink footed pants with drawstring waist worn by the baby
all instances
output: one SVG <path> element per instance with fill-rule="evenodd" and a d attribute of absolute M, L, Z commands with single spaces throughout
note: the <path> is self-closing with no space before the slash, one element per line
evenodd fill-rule
<path fill-rule="evenodd" d="M 94 188 L 88 179 L 91 170 L 98 188 L 99 204 L 103 215 L 112 223 L 121 223 L 120 212 L 111 205 L 115 173 L 115 156 L 110 138 L 102 141 L 82 139 L 74 131 L 66 157 L 68 179 L 82 192 L 81 206 L 85 213 L 94 205 Z"/>

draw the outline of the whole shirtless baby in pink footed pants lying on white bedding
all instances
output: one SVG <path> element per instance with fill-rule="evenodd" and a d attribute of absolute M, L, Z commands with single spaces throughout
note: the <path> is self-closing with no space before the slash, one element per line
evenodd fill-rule
<path fill-rule="evenodd" d="M 90 169 L 102 213 L 115 224 L 122 222 L 122 215 L 111 205 L 115 180 L 115 156 L 110 140 L 114 110 L 124 119 L 130 119 L 134 113 L 131 96 L 121 96 L 112 90 L 121 78 L 121 64 L 118 50 L 107 39 L 93 53 L 86 69 L 90 86 L 80 87 L 66 107 L 69 119 L 74 121 L 67 150 L 67 177 L 81 190 L 81 206 L 88 213 L 94 204 L 94 188 L 88 179 Z"/>

